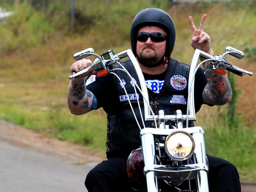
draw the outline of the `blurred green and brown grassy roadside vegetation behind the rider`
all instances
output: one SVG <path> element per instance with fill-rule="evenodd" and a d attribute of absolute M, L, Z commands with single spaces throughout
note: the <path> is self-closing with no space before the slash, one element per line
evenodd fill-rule
<path fill-rule="evenodd" d="M 130 24 L 146 7 L 162 8 L 173 17 L 174 59 L 191 62 L 188 16 L 192 15 L 198 27 L 202 14 L 207 13 L 205 31 L 215 54 L 233 46 L 244 51 L 245 58 L 227 59 L 256 72 L 256 2 L 170 6 L 160 0 L 77 1 L 74 28 L 70 27 L 70 1 L 50 2 L 47 10 L 33 2 L 0 4 L 15 13 L 0 20 L 0 119 L 49 137 L 106 150 L 105 112 L 100 109 L 75 116 L 67 108 L 72 55 L 89 47 L 97 54 L 130 48 Z M 252 181 L 256 181 L 255 76 L 230 75 L 233 102 L 203 106 L 196 122 L 206 131 L 207 153 L 231 161 L 241 179 Z"/>

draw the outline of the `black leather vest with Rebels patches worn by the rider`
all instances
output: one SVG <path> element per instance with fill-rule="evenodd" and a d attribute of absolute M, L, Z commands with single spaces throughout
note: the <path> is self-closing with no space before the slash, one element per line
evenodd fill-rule
<path fill-rule="evenodd" d="M 122 63 L 122 65 L 125 66 L 125 68 L 130 72 L 135 81 L 139 83 L 132 63 L 130 61 L 126 61 Z M 182 113 L 186 114 L 189 67 L 190 66 L 184 63 L 178 63 L 178 61 L 173 59 L 170 60 L 165 81 L 158 96 L 153 99 L 153 97 L 149 94 L 152 109 L 155 114 L 158 114 L 158 111 L 161 109 L 165 111 L 165 114 L 174 114 L 177 109 L 182 110 Z M 115 68 L 121 67 L 116 65 Z M 135 93 L 133 83 L 125 72 L 115 70 L 115 73 L 124 83 L 124 87 L 126 88 L 130 102 L 134 106 L 133 109 L 137 116 L 138 122 L 141 125 L 141 128 L 143 128 L 136 100 L 136 97 L 139 97 L 141 111 L 144 116 L 143 98 L 141 94 L 138 91 L 137 94 Z M 140 129 L 135 121 L 128 98 L 121 86 L 119 79 L 117 79 L 115 76 L 114 79 L 115 98 L 113 98 L 113 101 L 111 102 L 113 102 L 115 106 L 113 106 L 113 110 L 110 110 L 107 115 L 108 130 L 106 147 L 108 159 L 117 156 L 128 157 L 130 152 L 139 147 L 141 143 L 139 137 Z M 196 111 L 199 109 L 196 109 Z M 191 123 L 193 124 L 193 122 Z M 192 124 L 190 126 L 192 126 Z M 154 127 L 152 122 L 149 121 L 145 123 L 145 126 Z"/>

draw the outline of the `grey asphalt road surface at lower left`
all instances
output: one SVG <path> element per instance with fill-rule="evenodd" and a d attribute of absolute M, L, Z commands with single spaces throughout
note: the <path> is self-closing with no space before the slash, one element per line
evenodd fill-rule
<path fill-rule="evenodd" d="M 0 140 L 0 192 L 87 192 L 93 166 Z"/>

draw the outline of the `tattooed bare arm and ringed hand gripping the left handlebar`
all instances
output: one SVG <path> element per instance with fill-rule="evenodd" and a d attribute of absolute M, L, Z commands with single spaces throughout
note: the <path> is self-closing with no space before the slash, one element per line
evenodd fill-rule
<path fill-rule="evenodd" d="M 89 59 L 82 59 L 76 61 L 76 63 L 72 64 L 70 72 L 78 72 L 83 68 L 87 68 L 90 65 L 91 61 Z M 91 74 L 95 74 L 95 72 L 86 73 L 70 81 L 67 104 L 69 107 L 69 111 L 72 114 L 85 114 L 93 109 L 96 109 L 98 105 L 95 95 L 91 91 L 86 90 L 85 87 L 85 77 Z"/>

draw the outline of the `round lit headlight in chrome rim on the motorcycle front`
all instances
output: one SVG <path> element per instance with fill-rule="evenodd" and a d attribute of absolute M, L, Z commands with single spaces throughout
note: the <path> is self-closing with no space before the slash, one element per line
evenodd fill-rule
<path fill-rule="evenodd" d="M 165 141 L 165 152 L 174 160 L 183 161 L 195 150 L 193 137 L 185 131 L 174 131 Z"/>

